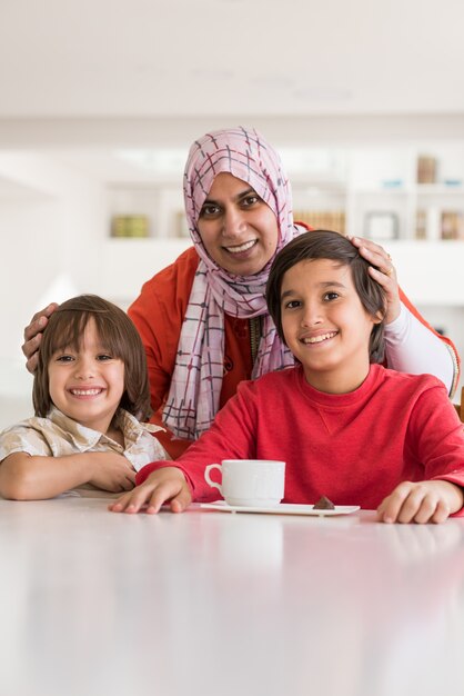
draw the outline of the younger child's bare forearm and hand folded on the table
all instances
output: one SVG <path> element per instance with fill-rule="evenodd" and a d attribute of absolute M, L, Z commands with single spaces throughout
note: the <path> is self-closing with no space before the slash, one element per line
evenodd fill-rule
<path fill-rule="evenodd" d="M 129 490 L 135 484 L 135 471 L 123 455 L 113 451 L 63 457 L 17 451 L 0 464 L 0 495 L 12 500 L 52 498 L 83 484 L 112 493 Z"/>

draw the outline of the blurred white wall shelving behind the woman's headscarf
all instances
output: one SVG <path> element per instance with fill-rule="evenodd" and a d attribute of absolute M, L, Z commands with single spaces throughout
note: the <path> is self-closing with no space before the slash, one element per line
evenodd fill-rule
<path fill-rule="evenodd" d="M 464 142 L 281 153 L 295 211 L 343 211 L 346 231 L 385 242 L 423 241 L 418 216 L 425 240 L 440 241 L 443 213 L 456 213 L 463 220 L 458 233 L 464 241 Z M 436 160 L 433 183 L 417 183 L 417 161 L 424 153 Z M 158 172 L 152 185 L 113 185 L 108 189 L 109 220 L 114 215 L 144 215 L 150 239 L 188 238 L 181 185 L 181 177 L 175 182 L 172 172 L 165 181 Z"/>

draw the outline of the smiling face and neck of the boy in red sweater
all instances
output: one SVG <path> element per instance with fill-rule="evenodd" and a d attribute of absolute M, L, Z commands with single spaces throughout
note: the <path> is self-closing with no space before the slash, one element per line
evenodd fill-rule
<path fill-rule="evenodd" d="M 370 336 L 381 317 L 362 306 L 347 266 L 315 259 L 290 268 L 282 280 L 281 312 L 285 342 L 310 385 L 346 394 L 364 381 Z"/>

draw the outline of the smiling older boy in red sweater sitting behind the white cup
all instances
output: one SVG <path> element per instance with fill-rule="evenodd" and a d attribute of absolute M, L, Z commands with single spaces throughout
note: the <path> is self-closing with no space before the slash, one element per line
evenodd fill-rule
<path fill-rule="evenodd" d="M 380 520 L 441 523 L 462 509 L 464 430 L 444 385 L 380 365 L 383 289 L 349 239 L 301 235 L 275 258 L 266 300 L 297 367 L 244 381 L 175 461 L 147 465 L 115 513 L 182 511 L 218 497 L 222 459 L 286 461 L 284 503 L 377 509 Z"/>

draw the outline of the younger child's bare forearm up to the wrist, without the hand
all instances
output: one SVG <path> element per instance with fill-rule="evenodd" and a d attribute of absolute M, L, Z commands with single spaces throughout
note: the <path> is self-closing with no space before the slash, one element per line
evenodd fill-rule
<path fill-rule="evenodd" d="M 13 500 L 41 500 L 81 486 L 91 476 L 91 453 L 65 457 L 14 453 L 0 465 L 0 494 Z"/>

